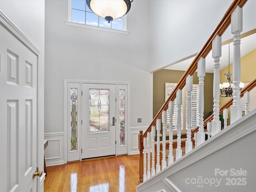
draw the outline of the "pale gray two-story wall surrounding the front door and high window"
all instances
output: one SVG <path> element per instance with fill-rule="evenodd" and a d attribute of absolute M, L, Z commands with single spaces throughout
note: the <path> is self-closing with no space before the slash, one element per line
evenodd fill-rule
<path fill-rule="evenodd" d="M 144 4 L 145 1 L 132 2 L 127 15 L 130 33 L 126 35 L 67 25 L 68 1 L 46 1 L 45 136 L 61 142 L 61 153 L 64 152 L 64 79 L 130 82 L 128 137 L 131 139 L 134 129 L 138 132 L 152 121 L 153 78 L 147 71 L 148 8 L 143 8 Z M 142 118 L 142 123 L 137 123 L 137 118 Z M 138 151 L 132 147 L 132 141 L 128 140 L 128 145 L 128 153 Z M 46 150 L 51 154 L 50 143 Z M 52 164 L 53 161 L 59 163 L 63 158 L 52 160 Z"/>

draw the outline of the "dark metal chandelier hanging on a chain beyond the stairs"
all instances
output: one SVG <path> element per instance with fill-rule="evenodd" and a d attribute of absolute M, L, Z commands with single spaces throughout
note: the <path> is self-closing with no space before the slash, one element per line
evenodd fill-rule
<path fill-rule="evenodd" d="M 231 81 L 233 73 L 230 73 L 230 43 L 228 44 L 228 73 L 225 73 L 224 76 L 227 78 L 227 81 L 223 84 L 220 84 L 220 96 L 232 97 L 234 84 Z M 244 87 L 244 83 L 240 82 L 239 86 L 241 90 Z"/>

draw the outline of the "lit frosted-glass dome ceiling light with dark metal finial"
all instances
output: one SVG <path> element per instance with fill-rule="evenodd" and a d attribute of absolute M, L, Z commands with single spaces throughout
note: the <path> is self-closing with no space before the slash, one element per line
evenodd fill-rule
<path fill-rule="evenodd" d="M 124 16 L 131 8 L 133 0 L 86 0 L 87 6 L 108 23 Z"/>

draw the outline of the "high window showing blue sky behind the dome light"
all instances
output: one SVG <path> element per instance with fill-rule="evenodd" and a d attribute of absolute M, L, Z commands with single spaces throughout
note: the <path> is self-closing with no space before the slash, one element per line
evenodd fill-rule
<path fill-rule="evenodd" d="M 70 0 L 69 21 L 99 28 L 126 31 L 126 16 L 108 23 L 104 18 L 94 14 L 87 6 L 86 0 Z"/>

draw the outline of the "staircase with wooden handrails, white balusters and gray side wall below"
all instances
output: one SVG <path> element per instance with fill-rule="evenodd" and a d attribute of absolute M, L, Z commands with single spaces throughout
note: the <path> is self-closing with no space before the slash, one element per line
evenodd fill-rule
<path fill-rule="evenodd" d="M 240 90 L 240 33 L 242 31 L 242 7 L 246 0 L 234 0 L 224 17 L 190 64 L 169 98 L 163 104 L 148 129 L 140 131 L 140 177 L 137 192 L 198 192 L 198 191 L 255 191 L 256 159 L 254 137 L 256 136 L 256 110 L 248 112 L 250 91 L 256 86 L 256 79 Z M 220 57 L 221 36 L 231 24 L 234 46 L 233 97 L 221 108 L 220 99 Z M 204 77 L 205 58 L 212 50 L 214 62 L 213 114 L 205 121 L 204 116 Z M 197 70 L 199 80 L 199 123 L 191 130 L 192 76 Z M 182 89 L 186 85 L 186 147 L 182 156 L 181 148 L 181 105 Z M 240 98 L 244 98 L 245 115 L 242 117 Z M 176 158 L 172 154 L 173 131 L 170 128 L 166 141 L 167 110 L 169 124 L 172 125 L 174 100 L 177 110 Z M 228 113 L 230 108 L 230 113 Z M 223 114 L 224 129 L 219 115 Z M 227 124 L 230 114 L 230 125 Z M 171 126 L 170 126 L 171 127 Z M 205 132 L 205 127 L 207 130 Z M 206 134 L 208 140 L 205 141 Z M 160 154 L 162 137 L 162 154 Z M 166 149 L 166 143 L 169 149 Z M 156 150 L 155 150 L 156 143 Z M 193 149 L 193 146 L 195 148 Z M 170 151 L 166 158 L 166 152 Z M 252 157 L 252 158 L 251 158 Z M 253 190 L 254 187 L 254 190 Z"/>

